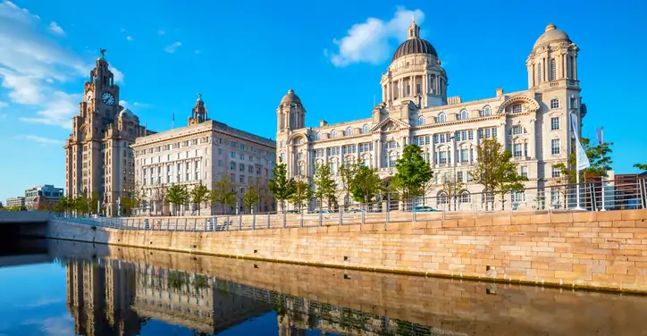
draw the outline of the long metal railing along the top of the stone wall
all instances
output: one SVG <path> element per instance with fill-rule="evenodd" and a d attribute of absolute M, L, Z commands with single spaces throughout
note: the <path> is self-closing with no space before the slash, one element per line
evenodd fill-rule
<path fill-rule="evenodd" d="M 246 231 L 332 225 L 418 222 L 447 218 L 477 218 L 483 214 L 553 211 L 644 209 L 645 180 L 586 182 L 529 188 L 508 193 L 457 193 L 447 197 L 416 197 L 379 202 L 288 210 L 258 214 L 200 217 L 75 217 L 56 215 L 71 223 L 139 231 Z"/>

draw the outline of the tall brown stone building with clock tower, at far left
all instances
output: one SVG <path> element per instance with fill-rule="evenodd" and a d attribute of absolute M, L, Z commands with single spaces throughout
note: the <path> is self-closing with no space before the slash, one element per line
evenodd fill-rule
<path fill-rule="evenodd" d="M 139 118 L 119 105 L 119 86 L 102 54 L 85 82 L 85 100 L 72 119 L 65 142 L 65 189 L 70 197 L 95 195 L 103 200 L 105 214 L 117 214 L 119 197 L 134 188 L 135 160 L 130 145 L 153 134 Z"/>

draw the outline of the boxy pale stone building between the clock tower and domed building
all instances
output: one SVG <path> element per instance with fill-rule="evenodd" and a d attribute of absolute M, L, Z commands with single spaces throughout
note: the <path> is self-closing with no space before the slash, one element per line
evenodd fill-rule
<path fill-rule="evenodd" d="M 258 211 L 273 211 L 275 201 L 268 189 L 275 161 L 276 143 L 207 117 L 205 102 L 198 95 L 189 125 L 138 138 L 135 150 L 136 183 L 146 190 L 147 212 L 169 214 L 164 202 L 173 184 L 192 189 L 205 185 L 213 189 L 227 177 L 234 185 L 236 202 L 231 205 L 200 205 L 200 214 L 235 214 L 248 211 L 243 195 L 249 187 L 259 193 Z M 223 211 L 223 207 L 225 208 Z M 183 212 L 194 212 L 185 205 Z"/>

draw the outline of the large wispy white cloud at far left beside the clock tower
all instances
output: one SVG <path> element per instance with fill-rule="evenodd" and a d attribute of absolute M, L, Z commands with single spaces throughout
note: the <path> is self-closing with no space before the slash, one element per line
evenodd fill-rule
<path fill-rule="evenodd" d="M 21 121 L 71 129 L 71 116 L 78 111 L 82 95 L 68 94 L 58 86 L 85 78 L 93 64 L 42 34 L 42 25 L 38 15 L 9 1 L 0 2 L 1 87 L 11 103 L 38 109 Z M 58 25 L 46 25 L 46 29 L 53 27 Z M 115 80 L 123 80 L 121 72 L 115 73 Z"/>

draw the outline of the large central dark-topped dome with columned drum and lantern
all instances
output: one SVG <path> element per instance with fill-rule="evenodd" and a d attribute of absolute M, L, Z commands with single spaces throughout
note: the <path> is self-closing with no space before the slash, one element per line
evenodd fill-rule
<path fill-rule="evenodd" d="M 393 53 L 391 64 L 382 73 L 382 102 L 392 109 L 408 101 L 418 108 L 447 105 L 447 73 L 432 44 L 420 38 L 415 20 L 407 30 L 407 40 Z"/>

